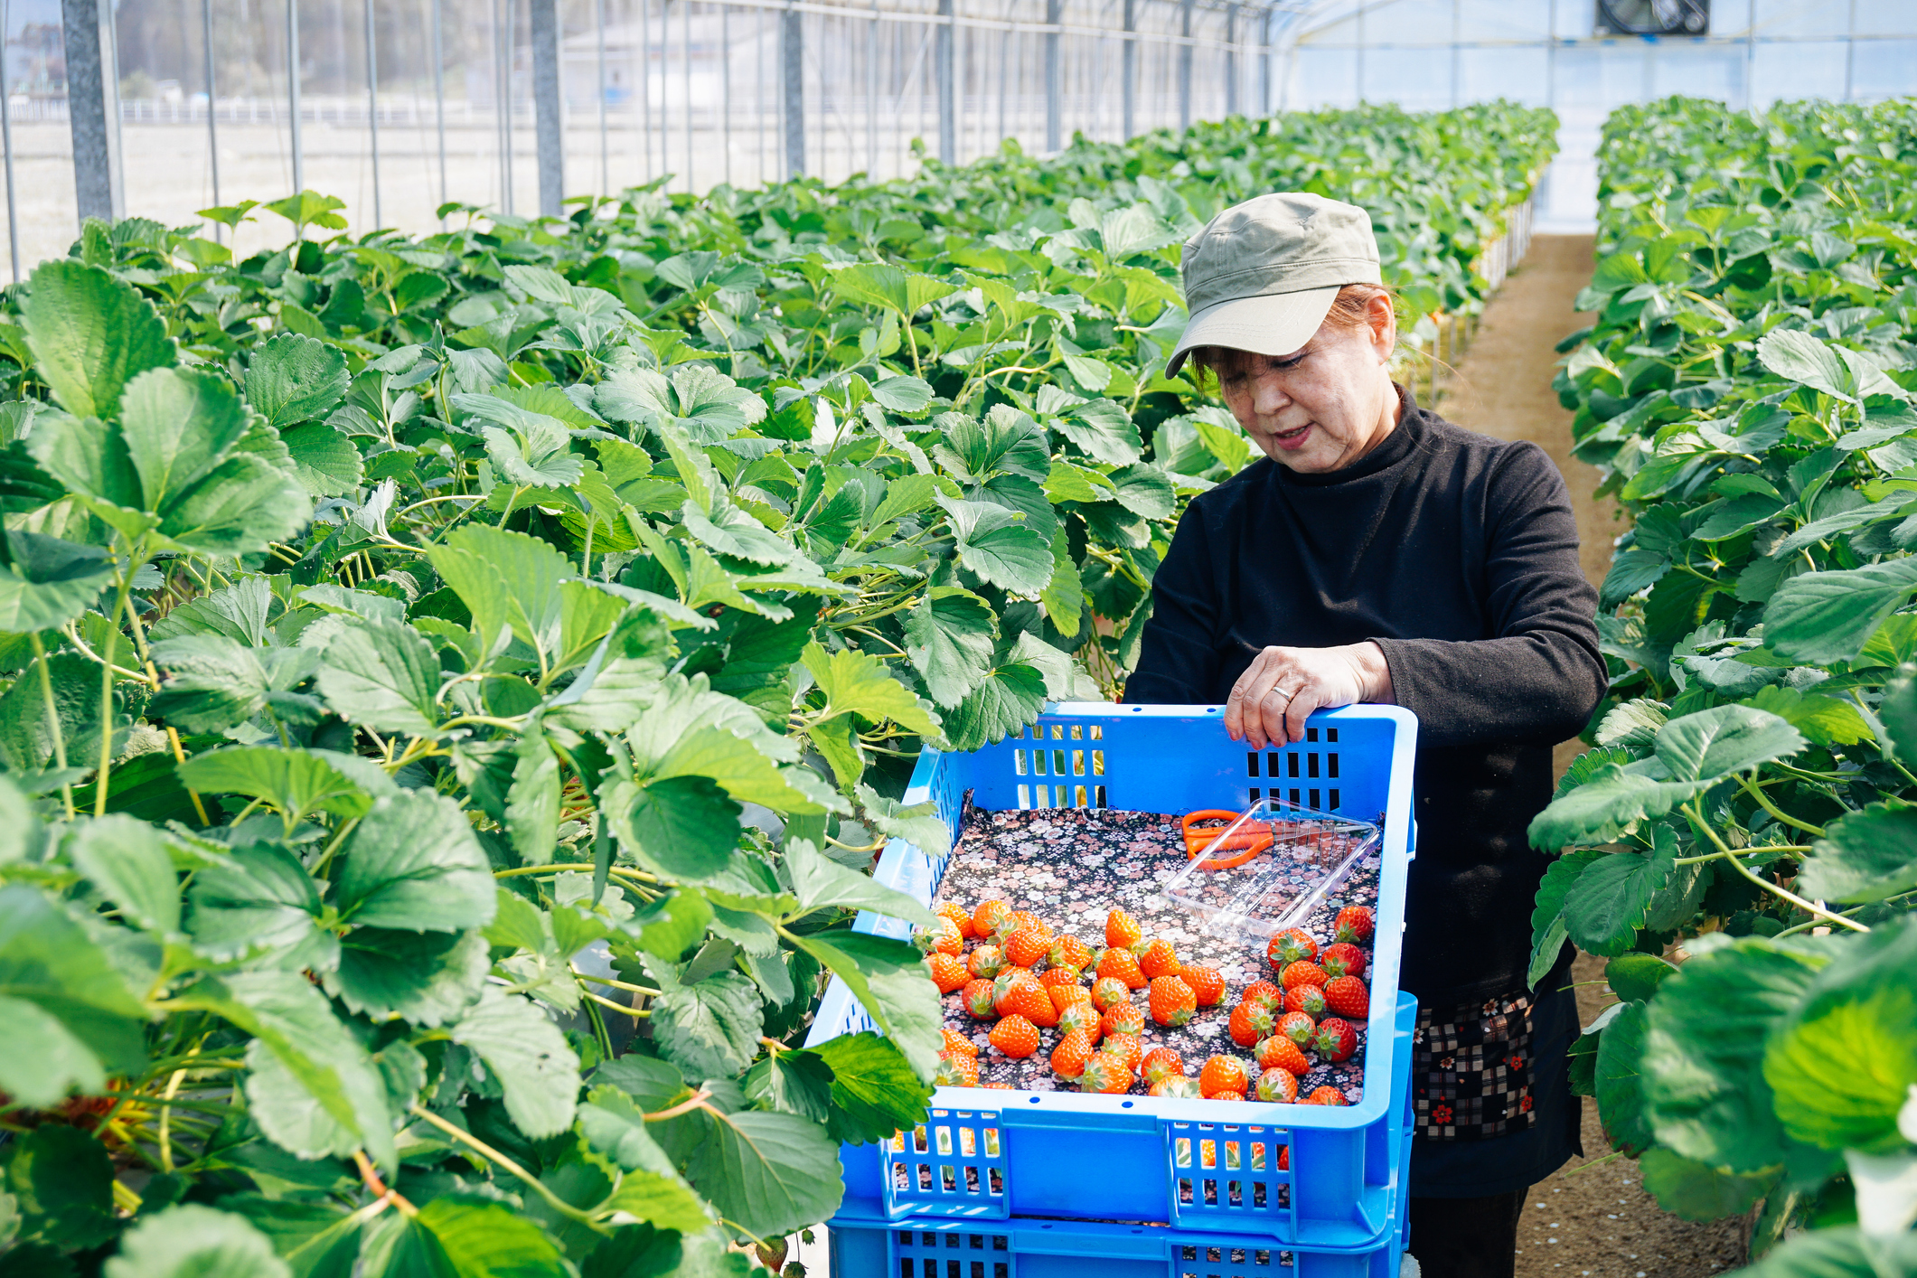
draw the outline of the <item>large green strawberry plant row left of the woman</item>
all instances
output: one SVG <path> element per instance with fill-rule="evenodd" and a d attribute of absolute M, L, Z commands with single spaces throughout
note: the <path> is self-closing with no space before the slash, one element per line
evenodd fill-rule
<path fill-rule="evenodd" d="M 924 1115 L 899 795 L 1116 692 L 1185 496 L 1177 245 L 1311 186 L 1419 307 L 1551 149 L 1476 107 L 243 261 L 0 314 L 0 1265 L 740 1272 Z M 842 977 L 882 1033 L 803 1048 Z"/>

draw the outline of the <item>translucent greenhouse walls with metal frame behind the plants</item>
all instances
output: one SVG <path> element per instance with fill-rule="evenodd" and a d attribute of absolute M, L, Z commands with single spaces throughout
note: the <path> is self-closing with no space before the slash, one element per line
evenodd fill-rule
<path fill-rule="evenodd" d="M 1545 224 L 1587 224 L 1603 115 L 1909 88 L 1917 10 L 1718 0 L 1687 38 L 1591 0 L 4 0 L 17 278 L 84 217 L 312 188 L 355 228 L 558 213 L 663 182 L 828 182 L 1227 115 L 1513 98 L 1559 111 Z M 71 174 L 67 172 L 71 169 Z"/>

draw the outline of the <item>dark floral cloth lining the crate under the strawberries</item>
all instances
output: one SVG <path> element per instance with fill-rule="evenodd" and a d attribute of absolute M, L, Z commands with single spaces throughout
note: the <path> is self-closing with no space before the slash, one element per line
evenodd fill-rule
<path fill-rule="evenodd" d="M 1060 933 L 1085 941 L 1095 950 L 1104 945 L 1104 918 L 1123 906 L 1144 929 L 1146 939 L 1164 937 L 1179 960 L 1217 968 L 1225 977 L 1225 998 L 1215 1008 L 1200 1008 L 1189 1023 L 1167 1029 L 1144 1017 L 1144 1050 L 1167 1046 L 1185 1060 L 1192 1077 L 1208 1056 L 1250 1052 L 1236 1046 L 1227 1031 L 1231 1008 L 1246 985 L 1271 977 L 1263 947 L 1223 939 L 1200 929 L 1200 922 L 1158 893 L 1160 881 L 1185 866 L 1185 837 L 1179 818 L 1162 812 L 1116 812 L 1110 809 L 983 810 L 966 803 L 958 845 L 939 883 L 934 904 L 953 901 L 966 910 L 982 901 L 1003 899 L 1016 910 L 1031 910 Z M 1305 931 L 1327 943 L 1332 920 L 1344 904 L 1376 904 L 1378 856 L 1373 853 L 1346 881 L 1346 893 L 1311 914 Z M 1133 996 L 1146 1010 L 1144 991 Z M 978 1044 L 980 1083 L 1001 1083 L 1028 1092 L 1051 1092 L 1072 1084 L 1051 1069 L 1058 1031 L 1041 1031 L 1041 1046 L 1026 1060 L 1010 1060 L 987 1040 L 991 1025 L 966 1016 L 958 993 L 943 998 L 945 1025 Z M 1365 1027 L 1357 1027 L 1357 1052 L 1336 1065 L 1315 1065 L 1298 1083 L 1300 1096 L 1319 1086 L 1336 1086 L 1346 1100 L 1363 1098 Z M 1133 1090 L 1143 1092 L 1144 1084 Z"/>

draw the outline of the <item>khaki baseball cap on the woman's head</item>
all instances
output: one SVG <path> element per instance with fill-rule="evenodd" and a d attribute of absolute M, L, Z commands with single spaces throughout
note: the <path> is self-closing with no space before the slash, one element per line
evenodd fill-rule
<path fill-rule="evenodd" d="M 1190 320 L 1166 376 L 1196 347 L 1290 354 L 1319 330 L 1346 284 L 1384 284 L 1371 215 L 1304 192 L 1233 205 L 1185 241 Z"/>

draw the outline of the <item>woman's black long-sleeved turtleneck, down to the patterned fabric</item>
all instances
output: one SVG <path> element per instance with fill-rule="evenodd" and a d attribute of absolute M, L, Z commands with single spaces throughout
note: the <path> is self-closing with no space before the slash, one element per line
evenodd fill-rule
<path fill-rule="evenodd" d="M 1267 458 L 1192 500 L 1125 699 L 1219 705 L 1269 644 L 1376 640 L 1419 717 L 1403 985 L 1459 1004 L 1524 987 L 1549 864 L 1524 832 L 1606 673 L 1557 466 L 1399 397 L 1399 425 L 1353 466 Z"/>

